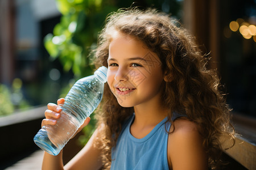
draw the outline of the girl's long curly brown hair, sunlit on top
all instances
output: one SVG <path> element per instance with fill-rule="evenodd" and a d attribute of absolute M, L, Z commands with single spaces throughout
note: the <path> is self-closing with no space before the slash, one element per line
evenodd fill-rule
<path fill-rule="evenodd" d="M 220 92 L 216 70 L 207 69 L 208 59 L 201 54 L 195 38 L 180 27 L 170 16 L 154 9 L 121 9 L 106 19 L 96 49 L 96 65 L 108 66 L 109 43 L 114 31 L 133 36 L 156 53 L 162 62 L 164 92 L 162 103 L 195 122 L 203 136 L 203 146 L 209 156 L 209 167 L 220 164 L 222 135 L 233 140 L 234 129 L 230 124 L 230 109 Z M 105 168 L 111 165 L 111 150 L 115 146 L 122 124 L 133 108 L 121 107 L 106 84 L 102 110 L 98 113 L 98 125 L 103 125 L 102 159 Z M 168 121 L 171 122 L 168 115 Z"/>

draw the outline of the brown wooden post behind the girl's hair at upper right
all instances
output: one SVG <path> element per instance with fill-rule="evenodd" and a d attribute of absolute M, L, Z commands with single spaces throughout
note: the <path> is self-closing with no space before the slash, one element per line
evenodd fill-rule
<path fill-rule="evenodd" d="M 218 0 L 184 0 L 184 25 L 196 37 L 203 54 L 212 59 L 210 69 L 219 67 L 219 27 Z"/>

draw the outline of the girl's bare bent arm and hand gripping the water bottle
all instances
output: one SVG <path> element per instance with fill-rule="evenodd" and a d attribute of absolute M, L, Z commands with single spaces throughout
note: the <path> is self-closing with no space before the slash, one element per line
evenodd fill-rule
<path fill-rule="evenodd" d="M 59 99 L 57 101 L 58 105 L 64 103 L 64 99 Z M 45 112 L 46 118 L 42 121 L 42 126 L 44 125 L 55 125 L 57 118 L 60 117 L 61 110 L 58 105 L 49 103 L 47 105 L 48 109 Z M 77 130 L 77 133 L 88 125 L 90 118 L 86 118 L 84 124 Z M 43 158 L 43 170 L 59 170 L 59 169 L 99 169 L 101 167 L 100 161 L 100 150 L 93 145 L 93 141 L 97 138 L 98 130 L 96 130 L 86 146 L 77 154 L 71 162 L 69 162 L 65 167 L 63 167 L 63 151 L 60 151 L 59 155 L 53 156 L 44 152 Z M 77 134 L 76 133 L 76 134 Z M 75 135 L 74 135 L 75 136 Z"/>

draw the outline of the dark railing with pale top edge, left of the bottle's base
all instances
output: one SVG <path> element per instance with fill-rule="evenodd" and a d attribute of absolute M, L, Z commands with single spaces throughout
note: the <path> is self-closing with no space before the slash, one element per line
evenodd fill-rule
<path fill-rule="evenodd" d="M 0 117 L 0 169 L 38 149 L 33 138 L 41 127 L 46 107 Z"/>

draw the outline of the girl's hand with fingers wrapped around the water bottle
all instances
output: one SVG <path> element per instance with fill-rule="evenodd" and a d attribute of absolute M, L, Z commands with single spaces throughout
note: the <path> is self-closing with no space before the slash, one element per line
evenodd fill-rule
<path fill-rule="evenodd" d="M 61 106 L 64 104 L 64 101 L 65 99 L 61 98 L 57 100 L 57 105 L 54 103 L 49 103 L 47 105 L 48 109 L 46 110 L 46 112 L 44 112 L 44 115 L 46 116 L 46 118 L 44 118 L 42 121 L 42 127 L 45 125 L 56 125 L 57 119 L 60 118 L 60 114 L 62 111 Z M 73 137 L 75 137 L 75 135 L 79 133 L 79 131 L 81 131 L 82 128 L 88 125 L 89 122 L 90 122 L 90 117 L 87 117 L 86 120 L 84 121 L 84 124 L 80 126 L 80 128 L 76 131 Z"/>

